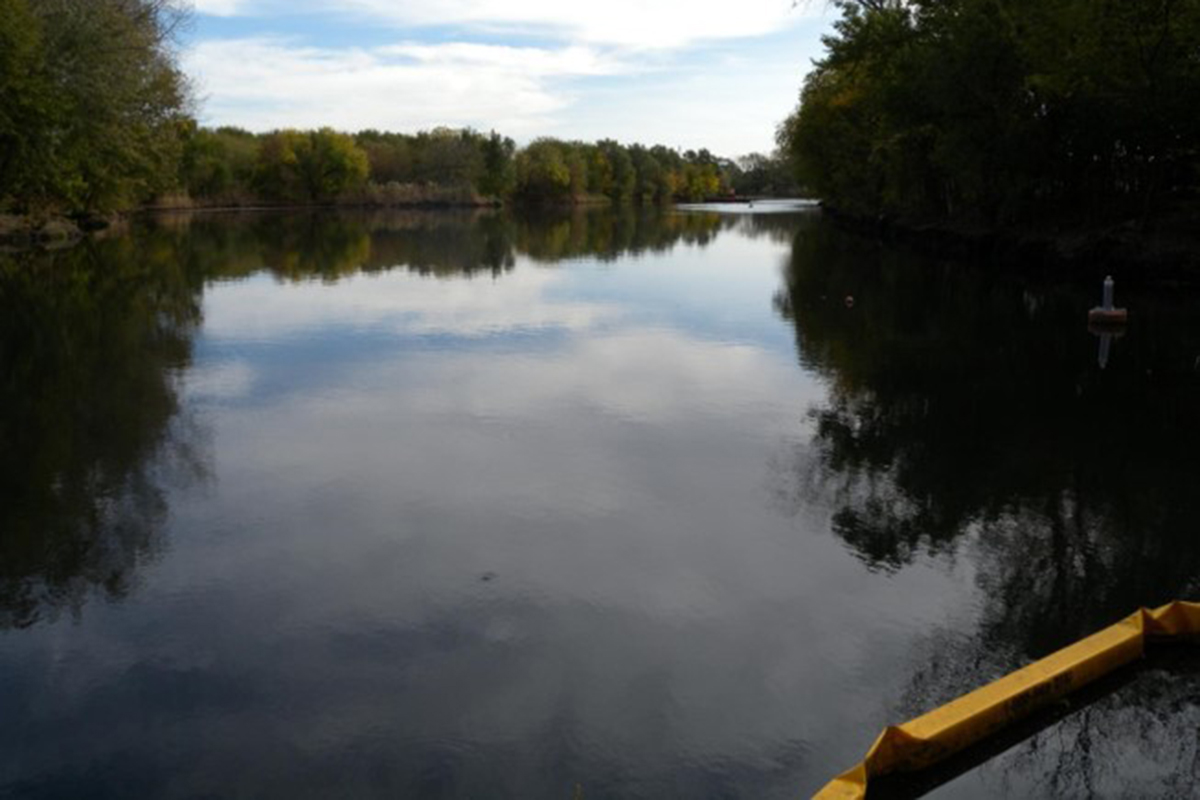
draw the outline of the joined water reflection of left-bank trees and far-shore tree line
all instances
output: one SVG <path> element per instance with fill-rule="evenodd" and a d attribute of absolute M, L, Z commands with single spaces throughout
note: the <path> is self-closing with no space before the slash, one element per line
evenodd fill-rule
<path fill-rule="evenodd" d="M 205 480 L 185 409 L 204 287 L 268 272 L 498 278 L 518 254 L 704 246 L 730 217 L 666 209 L 167 216 L 58 252 L 0 254 L 0 628 L 128 595 L 167 546 L 169 489 Z"/>

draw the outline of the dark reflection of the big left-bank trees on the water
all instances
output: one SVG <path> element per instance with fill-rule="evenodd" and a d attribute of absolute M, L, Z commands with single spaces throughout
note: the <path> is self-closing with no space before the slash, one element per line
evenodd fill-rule
<path fill-rule="evenodd" d="M 126 596 L 163 547 L 164 470 L 199 469 L 174 381 L 199 281 L 161 245 L 0 260 L 0 628 Z"/>

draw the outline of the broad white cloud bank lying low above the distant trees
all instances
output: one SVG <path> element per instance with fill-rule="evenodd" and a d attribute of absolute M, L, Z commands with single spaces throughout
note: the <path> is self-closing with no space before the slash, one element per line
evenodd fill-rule
<path fill-rule="evenodd" d="M 251 130 L 330 125 L 413 131 L 438 125 L 535 133 L 569 104 L 564 78 L 614 74 L 599 49 L 415 44 L 361 49 L 278 38 L 217 40 L 185 55 L 205 115 Z"/>

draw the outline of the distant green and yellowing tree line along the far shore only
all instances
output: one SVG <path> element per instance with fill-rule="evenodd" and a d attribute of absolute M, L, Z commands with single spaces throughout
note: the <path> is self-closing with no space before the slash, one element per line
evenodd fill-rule
<path fill-rule="evenodd" d="M 499 133 L 331 128 L 254 134 L 187 127 L 178 186 L 193 200 L 238 205 L 266 199 L 478 204 L 526 201 L 695 201 L 790 188 L 770 156 L 738 162 L 708 150 L 540 138 L 524 148 Z M 774 172 L 772 172 L 774 170 Z"/>

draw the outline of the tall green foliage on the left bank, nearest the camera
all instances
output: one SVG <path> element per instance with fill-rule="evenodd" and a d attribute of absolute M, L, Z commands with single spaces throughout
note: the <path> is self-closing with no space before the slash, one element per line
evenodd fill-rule
<path fill-rule="evenodd" d="M 169 0 L 0 2 L 0 197 L 113 210 L 175 181 L 187 84 Z"/>

